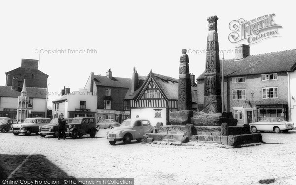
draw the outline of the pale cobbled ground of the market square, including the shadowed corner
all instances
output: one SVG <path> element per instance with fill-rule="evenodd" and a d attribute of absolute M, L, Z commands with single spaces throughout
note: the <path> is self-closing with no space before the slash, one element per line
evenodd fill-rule
<path fill-rule="evenodd" d="M 261 185 L 274 179 L 269 185 L 296 185 L 296 132 L 262 133 L 266 144 L 229 149 L 111 146 L 106 131 L 66 140 L 0 133 L 0 165 L 11 179 L 135 178 L 135 185 Z"/>

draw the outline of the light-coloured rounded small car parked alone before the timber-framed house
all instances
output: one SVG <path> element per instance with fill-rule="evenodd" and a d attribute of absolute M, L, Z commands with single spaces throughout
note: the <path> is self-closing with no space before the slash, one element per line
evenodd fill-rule
<path fill-rule="evenodd" d="M 155 128 L 146 119 L 126 119 L 119 127 L 110 130 L 107 133 L 107 139 L 111 145 L 115 145 L 117 141 L 122 141 L 126 144 L 132 140 L 141 141 L 146 133 L 152 133 Z"/>

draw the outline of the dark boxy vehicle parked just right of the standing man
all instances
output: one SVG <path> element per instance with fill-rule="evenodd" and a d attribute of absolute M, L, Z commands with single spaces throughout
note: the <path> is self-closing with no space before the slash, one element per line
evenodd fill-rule
<path fill-rule="evenodd" d="M 72 138 L 89 134 L 91 138 L 96 136 L 96 119 L 94 117 L 75 117 L 71 123 L 66 124 L 66 135 Z"/>

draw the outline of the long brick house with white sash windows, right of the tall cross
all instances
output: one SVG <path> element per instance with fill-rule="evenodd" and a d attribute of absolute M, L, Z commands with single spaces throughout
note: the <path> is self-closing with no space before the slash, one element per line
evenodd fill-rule
<path fill-rule="evenodd" d="M 224 61 L 221 96 L 224 94 L 225 111 L 233 113 L 238 126 L 259 121 L 262 117 L 289 120 L 288 73 L 294 71 L 296 49 L 259 55 L 249 53 L 248 45 L 237 45 L 235 58 Z M 222 70 L 220 77 L 222 84 Z M 198 104 L 202 108 L 204 73 L 197 78 L 197 89 Z"/>

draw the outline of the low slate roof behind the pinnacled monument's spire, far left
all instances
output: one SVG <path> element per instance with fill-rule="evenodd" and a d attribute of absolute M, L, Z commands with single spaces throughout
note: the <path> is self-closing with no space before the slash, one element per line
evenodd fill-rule
<path fill-rule="evenodd" d="M 18 90 L 12 90 L 11 86 L 0 86 L 0 97 L 19 97 L 22 87 Z M 46 98 L 46 88 L 26 87 L 27 96 L 29 98 Z"/>

